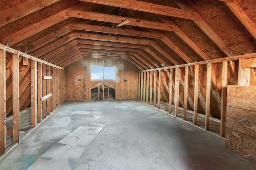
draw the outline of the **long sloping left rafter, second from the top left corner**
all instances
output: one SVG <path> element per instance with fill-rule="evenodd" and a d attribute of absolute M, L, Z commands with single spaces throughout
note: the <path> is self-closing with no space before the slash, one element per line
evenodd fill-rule
<path fill-rule="evenodd" d="M 11 35 L 8 35 L 7 37 L 4 37 L 2 39 L 3 44 L 7 44 L 8 39 L 10 39 L 10 46 L 14 45 L 36 33 L 39 33 L 40 31 L 43 31 L 44 29 L 51 27 L 52 25 L 59 23 L 61 21 L 66 20 L 69 18 L 69 16 L 66 15 L 66 12 L 69 10 L 85 10 L 87 8 L 90 8 L 94 4 L 86 3 L 85 5 L 77 4 L 70 8 L 67 8 L 65 10 L 62 10 L 61 12 L 54 14 L 44 20 L 41 20 L 40 22 L 37 22 L 33 25 L 30 25 L 24 29 L 21 29 L 20 31 L 17 31 Z"/>

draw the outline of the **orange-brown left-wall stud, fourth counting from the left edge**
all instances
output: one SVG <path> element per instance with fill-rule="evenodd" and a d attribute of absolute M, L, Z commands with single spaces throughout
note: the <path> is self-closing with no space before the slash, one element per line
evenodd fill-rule
<path fill-rule="evenodd" d="M 37 62 L 37 122 L 42 121 L 42 63 Z"/>

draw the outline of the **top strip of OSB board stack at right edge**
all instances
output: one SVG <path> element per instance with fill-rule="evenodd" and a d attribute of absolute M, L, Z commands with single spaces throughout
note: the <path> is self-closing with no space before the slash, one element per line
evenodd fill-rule
<path fill-rule="evenodd" d="M 228 86 L 227 94 L 227 106 L 255 110 L 256 86 Z"/>

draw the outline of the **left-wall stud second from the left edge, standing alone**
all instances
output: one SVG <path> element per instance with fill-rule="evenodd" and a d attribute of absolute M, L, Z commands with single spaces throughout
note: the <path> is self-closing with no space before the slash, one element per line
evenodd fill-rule
<path fill-rule="evenodd" d="M 13 123 L 13 142 L 20 141 L 20 68 L 19 56 L 12 55 L 12 123 Z"/>

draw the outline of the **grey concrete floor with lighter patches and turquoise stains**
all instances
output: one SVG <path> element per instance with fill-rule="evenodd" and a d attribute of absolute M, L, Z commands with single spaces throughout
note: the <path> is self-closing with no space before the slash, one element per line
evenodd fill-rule
<path fill-rule="evenodd" d="M 256 169 L 224 143 L 139 101 L 66 102 L 1 158 L 0 169 Z"/>

